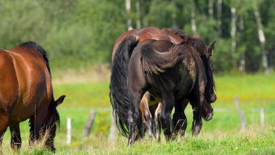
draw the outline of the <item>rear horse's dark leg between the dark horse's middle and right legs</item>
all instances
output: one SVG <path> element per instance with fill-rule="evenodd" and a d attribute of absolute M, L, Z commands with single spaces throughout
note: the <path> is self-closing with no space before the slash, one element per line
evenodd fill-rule
<path fill-rule="evenodd" d="M 185 135 L 187 127 L 187 118 L 185 116 L 184 110 L 188 105 L 188 100 L 184 99 L 183 101 L 175 101 L 175 113 L 173 114 L 172 119 L 172 131 L 174 132 L 174 138 L 180 133 L 181 136 Z"/>

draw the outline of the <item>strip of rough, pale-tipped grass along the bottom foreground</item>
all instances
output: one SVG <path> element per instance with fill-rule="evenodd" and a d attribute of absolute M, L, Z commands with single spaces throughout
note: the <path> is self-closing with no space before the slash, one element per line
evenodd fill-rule
<path fill-rule="evenodd" d="M 125 138 L 110 143 L 106 138 L 92 137 L 82 140 L 78 146 L 58 147 L 56 154 L 274 154 L 275 128 L 251 125 L 245 134 L 234 132 L 202 132 L 198 137 L 161 142 L 147 138 L 127 147 Z M 15 153 L 7 148 L 4 153 Z M 18 154 L 51 154 L 46 149 L 23 147 Z"/>

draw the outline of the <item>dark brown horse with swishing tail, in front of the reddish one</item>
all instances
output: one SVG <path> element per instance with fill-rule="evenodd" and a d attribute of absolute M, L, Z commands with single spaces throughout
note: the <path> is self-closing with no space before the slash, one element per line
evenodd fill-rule
<path fill-rule="evenodd" d="M 201 130 L 198 127 L 202 123 L 203 102 L 210 104 L 216 99 L 210 60 L 214 43 L 203 56 L 193 47 L 192 37 L 179 45 L 164 40 L 145 40 L 135 47 L 127 73 L 130 102 L 128 145 L 135 137 L 135 128 L 140 118 L 139 105 L 146 91 L 161 98 L 158 118 L 167 140 L 172 136 L 172 109 L 175 107 L 177 111 L 176 105 L 182 104 L 186 98 L 194 109 L 193 134 L 198 134 Z"/>

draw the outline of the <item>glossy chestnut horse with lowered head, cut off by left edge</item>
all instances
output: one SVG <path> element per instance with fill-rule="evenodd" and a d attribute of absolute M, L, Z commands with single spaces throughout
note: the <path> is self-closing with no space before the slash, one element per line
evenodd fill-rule
<path fill-rule="evenodd" d="M 53 139 L 60 123 L 56 108 L 65 95 L 56 101 L 53 98 L 46 51 L 31 41 L 0 50 L 0 72 L 0 150 L 8 126 L 11 147 L 20 148 L 19 123 L 30 118 L 30 144 L 47 131 L 45 146 L 55 151 Z"/>

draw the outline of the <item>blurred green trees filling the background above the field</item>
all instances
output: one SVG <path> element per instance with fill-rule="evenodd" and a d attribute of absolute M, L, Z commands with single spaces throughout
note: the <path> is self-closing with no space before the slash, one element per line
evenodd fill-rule
<path fill-rule="evenodd" d="M 217 72 L 275 68 L 273 0 L 0 0 L 0 19 L 1 49 L 36 41 L 55 69 L 110 63 L 116 39 L 130 27 L 216 40 Z"/>

